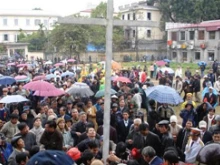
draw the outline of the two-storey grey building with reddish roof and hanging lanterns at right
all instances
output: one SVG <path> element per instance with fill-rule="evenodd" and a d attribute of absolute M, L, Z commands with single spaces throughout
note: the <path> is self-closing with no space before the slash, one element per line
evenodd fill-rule
<path fill-rule="evenodd" d="M 167 23 L 168 56 L 177 62 L 220 60 L 220 20 Z"/>

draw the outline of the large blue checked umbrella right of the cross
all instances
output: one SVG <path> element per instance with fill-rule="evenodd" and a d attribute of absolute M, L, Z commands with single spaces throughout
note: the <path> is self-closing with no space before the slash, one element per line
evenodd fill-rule
<path fill-rule="evenodd" d="M 177 105 L 183 102 L 182 97 L 177 91 L 169 86 L 157 85 L 150 87 L 145 90 L 145 93 L 149 98 L 154 99 L 159 103 Z"/>

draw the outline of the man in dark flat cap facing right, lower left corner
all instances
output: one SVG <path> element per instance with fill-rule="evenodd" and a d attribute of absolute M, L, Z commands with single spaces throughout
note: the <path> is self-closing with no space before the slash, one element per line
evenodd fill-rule
<path fill-rule="evenodd" d="M 27 152 L 24 148 L 25 144 L 21 136 L 14 136 L 11 140 L 11 145 L 14 150 L 8 158 L 8 165 L 17 165 L 16 155 L 21 152 Z"/>

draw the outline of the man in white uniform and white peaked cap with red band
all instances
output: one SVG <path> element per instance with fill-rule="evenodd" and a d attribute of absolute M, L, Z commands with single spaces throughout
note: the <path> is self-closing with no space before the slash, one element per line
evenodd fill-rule
<path fill-rule="evenodd" d="M 201 138 L 201 130 L 198 128 L 191 128 L 190 137 L 185 148 L 185 163 L 195 163 L 196 156 L 200 149 L 204 146 Z"/>

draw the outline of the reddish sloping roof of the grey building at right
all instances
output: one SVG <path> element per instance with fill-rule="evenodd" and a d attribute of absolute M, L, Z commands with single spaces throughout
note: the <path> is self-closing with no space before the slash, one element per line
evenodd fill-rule
<path fill-rule="evenodd" d="M 170 29 L 188 29 L 188 28 L 205 28 L 206 31 L 217 31 L 220 30 L 220 20 L 203 21 L 198 24 L 185 24 L 183 26 L 174 27 Z"/>

